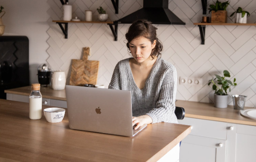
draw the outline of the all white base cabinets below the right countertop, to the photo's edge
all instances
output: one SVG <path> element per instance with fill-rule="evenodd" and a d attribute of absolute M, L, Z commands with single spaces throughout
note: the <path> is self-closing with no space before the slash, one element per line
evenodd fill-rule
<path fill-rule="evenodd" d="M 194 118 L 179 123 L 193 127 L 181 142 L 180 162 L 256 162 L 256 126 Z"/>

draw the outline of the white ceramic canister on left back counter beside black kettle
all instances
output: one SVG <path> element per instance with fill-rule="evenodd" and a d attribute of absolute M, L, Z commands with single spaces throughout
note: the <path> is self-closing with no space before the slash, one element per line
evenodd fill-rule
<path fill-rule="evenodd" d="M 52 89 L 64 90 L 66 85 L 65 72 L 56 71 L 52 73 Z"/>

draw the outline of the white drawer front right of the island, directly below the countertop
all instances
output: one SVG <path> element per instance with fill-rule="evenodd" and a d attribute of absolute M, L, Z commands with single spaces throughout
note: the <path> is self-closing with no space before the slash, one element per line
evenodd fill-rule
<path fill-rule="evenodd" d="M 180 124 L 191 125 L 191 135 L 210 137 L 215 139 L 227 139 L 227 123 L 204 119 L 184 118 L 178 121 Z"/>

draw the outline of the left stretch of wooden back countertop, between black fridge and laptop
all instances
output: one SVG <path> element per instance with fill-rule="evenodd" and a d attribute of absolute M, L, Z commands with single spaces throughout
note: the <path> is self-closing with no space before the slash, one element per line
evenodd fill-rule
<path fill-rule="evenodd" d="M 16 95 L 29 96 L 31 93 L 31 86 L 9 89 L 9 90 L 5 90 L 4 92 L 16 94 Z M 67 101 L 65 90 L 52 90 L 50 87 L 41 87 L 40 92 L 43 98 Z"/>

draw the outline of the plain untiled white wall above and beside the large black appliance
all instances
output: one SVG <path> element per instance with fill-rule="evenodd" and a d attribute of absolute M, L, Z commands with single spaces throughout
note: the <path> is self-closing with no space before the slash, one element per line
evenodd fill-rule
<path fill-rule="evenodd" d="M 25 35 L 29 38 L 29 75 L 30 83 L 38 83 L 37 68 L 46 63 L 49 57 L 46 50 L 47 20 L 49 5 L 46 0 L 1 0 L 6 14 L 2 17 L 4 35 Z"/>

